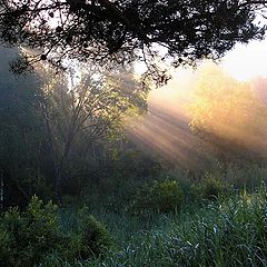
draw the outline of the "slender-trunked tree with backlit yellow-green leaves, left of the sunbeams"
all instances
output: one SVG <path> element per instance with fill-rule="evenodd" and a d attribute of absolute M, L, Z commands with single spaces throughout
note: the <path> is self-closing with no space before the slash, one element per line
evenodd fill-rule
<path fill-rule="evenodd" d="M 78 83 L 70 86 L 62 75 L 49 80 L 43 91 L 42 115 L 55 162 L 55 192 L 60 201 L 62 187 L 73 172 L 78 184 L 77 172 L 80 177 L 90 165 L 92 144 L 121 136 L 127 116 L 146 111 L 148 91 L 131 72 L 119 71 L 110 77 L 92 66 Z"/>

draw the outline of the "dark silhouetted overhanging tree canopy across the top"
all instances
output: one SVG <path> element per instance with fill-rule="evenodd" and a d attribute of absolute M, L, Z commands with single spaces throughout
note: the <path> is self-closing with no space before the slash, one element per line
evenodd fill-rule
<path fill-rule="evenodd" d="M 34 49 L 30 59 L 142 60 L 159 83 L 158 56 L 172 66 L 217 59 L 236 42 L 261 39 L 256 0 L 0 0 L 0 40 Z M 157 46 L 158 44 L 158 46 Z M 164 49 L 159 50 L 159 46 Z"/>

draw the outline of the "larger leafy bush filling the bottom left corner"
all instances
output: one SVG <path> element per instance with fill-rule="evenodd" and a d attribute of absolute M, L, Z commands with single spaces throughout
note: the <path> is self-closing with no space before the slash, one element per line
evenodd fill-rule
<path fill-rule="evenodd" d="M 48 254 L 60 250 L 63 236 L 59 231 L 57 207 L 43 205 L 33 197 L 24 212 L 6 211 L 0 220 L 0 258 L 6 266 L 33 266 Z"/>

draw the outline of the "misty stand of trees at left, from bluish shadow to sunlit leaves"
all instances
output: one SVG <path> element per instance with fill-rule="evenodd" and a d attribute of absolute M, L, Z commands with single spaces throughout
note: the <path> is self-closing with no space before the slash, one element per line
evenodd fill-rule
<path fill-rule="evenodd" d="M 53 77 L 47 68 L 14 77 L 9 61 L 18 55 L 16 48 L 0 48 L 4 207 L 24 207 L 33 195 L 58 200 L 61 192 L 81 195 L 88 177 L 115 161 L 112 150 L 126 149 L 126 119 L 146 112 L 149 88 L 134 69 L 111 76 L 92 65 L 72 80 L 72 90 L 70 76 Z"/>

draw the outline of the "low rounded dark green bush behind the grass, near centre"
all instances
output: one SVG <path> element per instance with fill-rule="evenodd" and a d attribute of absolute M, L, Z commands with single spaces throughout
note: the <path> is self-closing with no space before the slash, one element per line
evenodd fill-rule
<path fill-rule="evenodd" d="M 142 188 L 132 205 L 135 212 L 177 212 L 184 194 L 175 180 L 155 181 L 152 186 Z"/>

